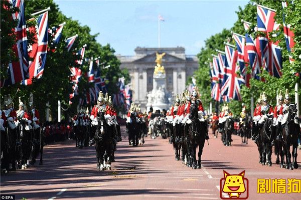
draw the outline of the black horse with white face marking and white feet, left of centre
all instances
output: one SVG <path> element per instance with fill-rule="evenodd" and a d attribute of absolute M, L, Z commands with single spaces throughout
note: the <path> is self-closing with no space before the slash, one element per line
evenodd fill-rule
<path fill-rule="evenodd" d="M 97 157 L 97 169 L 111 169 L 111 155 L 113 153 L 114 135 L 113 127 L 104 119 L 104 113 L 98 112 L 98 126 L 95 131 L 95 150 Z"/>

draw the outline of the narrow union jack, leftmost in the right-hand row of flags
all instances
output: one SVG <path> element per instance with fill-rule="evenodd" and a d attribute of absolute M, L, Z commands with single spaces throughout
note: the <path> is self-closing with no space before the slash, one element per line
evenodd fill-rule
<path fill-rule="evenodd" d="M 221 101 L 221 90 L 220 90 L 220 79 L 219 79 L 219 63 L 218 58 L 213 57 L 212 63 L 210 63 L 210 71 L 211 71 L 211 97 L 215 101 Z"/>

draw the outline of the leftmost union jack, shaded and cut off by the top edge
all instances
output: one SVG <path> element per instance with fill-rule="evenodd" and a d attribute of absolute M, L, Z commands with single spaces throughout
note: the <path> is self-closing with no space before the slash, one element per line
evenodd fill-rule
<path fill-rule="evenodd" d="M 25 5 L 23 0 L 10 0 L 13 8 L 18 8 L 19 12 L 13 13 L 13 20 L 18 20 L 18 25 L 15 29 L 17 43 L 12 47 L 14 55 L 18 61 L 12 61 L 8 66 L 8 79 L 1 83 L 1 85 L 13 85 L 15 83 L 24 81 L 29 78 L 28 71 L 28 43 L 26 34 L 26 20 L 25 20 Z M 5 8 L 9 9 L 9 8 Z"/>

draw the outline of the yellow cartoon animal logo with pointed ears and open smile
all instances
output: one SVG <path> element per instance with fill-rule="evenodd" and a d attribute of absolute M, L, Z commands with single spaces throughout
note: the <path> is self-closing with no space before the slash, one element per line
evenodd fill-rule
<path fill-rule="evenodd" d="M 244 177 L 245 171 L 239 174 L 229 174 L 224 170 L 224 178 L 220 180 L 220 186 L 222 185 L 222 180 L 224 180 L 223 189 L 221 191 L 228 193 L 229 198 L 222 196 L 220 191 L 220 196 L 222 199 L 247 199 L 248 198 L 248 179 Z M 246 185 L 245 181 L 246 180 Z M 242 193 L 247 191 L 246 197 L 240 197 Z"/>

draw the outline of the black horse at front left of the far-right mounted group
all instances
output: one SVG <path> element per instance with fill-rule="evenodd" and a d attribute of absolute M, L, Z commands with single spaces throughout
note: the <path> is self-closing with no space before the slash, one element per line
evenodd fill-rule
<path fill-rule="evenodd" d="M 271 155 L 272 155 L 272 145 L 271 142 L 274 138 L 274 133 L 272 129 L 273 119 L 267 118 L 264 121 L 264 124 L 260 128 L 260 147 L 262 150 L 262 165 L 265 165 L 266 162 L 268 166 L 272 166 Z M 267 158 L 266 158 L 267 157 Z"/>

